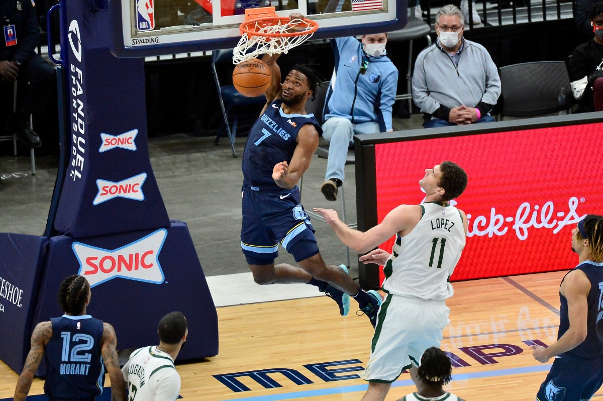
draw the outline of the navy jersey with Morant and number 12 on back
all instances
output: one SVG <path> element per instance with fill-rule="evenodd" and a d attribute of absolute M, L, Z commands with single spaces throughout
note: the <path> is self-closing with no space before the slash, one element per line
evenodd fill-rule
<path fill-rule="evenodd" d="M 103 321 L 90 315 L 51 318 L 44 393 L 50 399 L 90 399 L 103 393 Z"/>

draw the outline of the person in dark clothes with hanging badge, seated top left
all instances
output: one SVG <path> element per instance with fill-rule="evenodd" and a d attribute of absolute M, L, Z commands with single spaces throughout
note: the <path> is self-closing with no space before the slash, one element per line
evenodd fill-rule
<path fill-rule="evenodd" d="M 0 77 L 3 83 L 24 81 L 27 87 L 19 94 L 17 110 L 7 122 L 7 129 L 16 133 L 30 148 L 42 145 L 40 137 L 29 127 L 32 112 L 43 114 L 48 104 L 52 88 L 56 85 L 54 68 L 39 54 L 36 48 L 40 42 L 40 26 L 37 22 L 33 1 L 18 1 L 16 4 L 0 0 L 2 10 L 10 10 L 5 15 L 8 23 L 5 30 L 12 27 L 13 36 L 7 37 L 0 45 Z"/>

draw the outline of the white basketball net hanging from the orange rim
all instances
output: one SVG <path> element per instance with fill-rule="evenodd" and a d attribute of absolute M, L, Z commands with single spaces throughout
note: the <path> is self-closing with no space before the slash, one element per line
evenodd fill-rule
<path fill-rule="evenodd" d="M 273 55 L 277 53 L 285 53 L 295 46 L 301 45 L 312 37 L 314 32 L 304 33 L 312 28 L 312 25 L 303 19 L 294 19 L 282 23 L 275 21 L 276 25 L 265 25 L 265 21 L 254 22 L 256 34 L 249 35 L 243 33 L 238 45 L 233 49 L 232 62 L 238 64 L 251 58 L 256 58 L 260 54 Z M 250 23 L 251 25 L 251 23 Z M 251 25 L 253 26 L 253 25 Z M 295 32 L 294 36 L 262 36 L 266 33 L 285 33 Z"/>

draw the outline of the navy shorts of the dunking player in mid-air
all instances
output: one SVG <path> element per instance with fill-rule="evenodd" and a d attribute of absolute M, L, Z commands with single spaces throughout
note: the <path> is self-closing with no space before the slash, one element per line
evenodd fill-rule
<path fill-rule="evenodd" d="M 241 248 L 248 264 L 274 263 L 279 256 L 279 244 L 293 255 L 295 262 L 318 253 L 315 230 L 300 204 L 297 186 L 276 192 L 243 187 L 241 195 Z"/>

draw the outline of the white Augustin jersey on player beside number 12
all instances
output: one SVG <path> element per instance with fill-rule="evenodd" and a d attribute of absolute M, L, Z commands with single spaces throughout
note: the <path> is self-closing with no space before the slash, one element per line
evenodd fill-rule
<path fill-rule="evenodd" d="M 130 354 L 122 368 L 128 401 L 175 401 L 180 393 L 180 375 L 169 354 L 156 346 L 142 347 Z"/>

